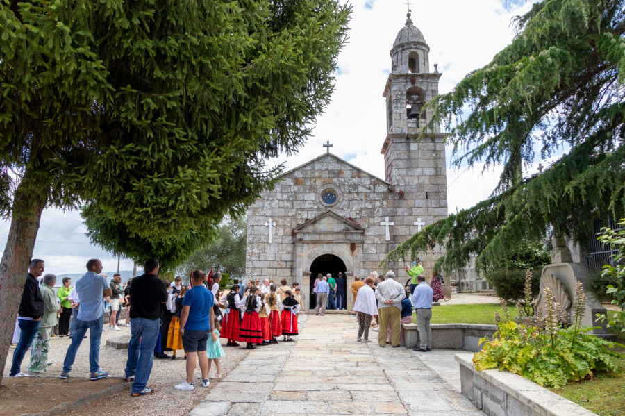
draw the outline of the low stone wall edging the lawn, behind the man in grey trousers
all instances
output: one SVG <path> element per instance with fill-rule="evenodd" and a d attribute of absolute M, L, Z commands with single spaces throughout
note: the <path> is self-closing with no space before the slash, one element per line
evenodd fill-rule
<path fill-rule="evenodd" d="M 406 348 L 413 348 L 419 342 L 417 324 L 401 324 Z M 481 324 L 432 324 L 432 348 L 464 349 L 481 351 L 480 338 L 490 337 L 497 331 L 495 325 Z"/>

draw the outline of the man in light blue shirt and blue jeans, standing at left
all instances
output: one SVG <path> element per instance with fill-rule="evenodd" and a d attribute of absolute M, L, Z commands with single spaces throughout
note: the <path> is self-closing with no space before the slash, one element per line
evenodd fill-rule
<path fill-rule="evenodd" d="M 81 299 L 81 308 L 76 316 L 76 326 L 72 331 L 72 344 L 69 344 L 65 361 L 63 362 L 63 372 L 59 378 L 69 377 L 72 365 L 76 359 L 78 347 L 83 342 L 83 337 L 89 329 L 89 367 L 91 371 L 90 380 L 99 380 L 109 376 L 107 372 L 100 369 L 100 340 L 102 338 L 102 325 L 104 316 L 105 296 L 113 294 L 106 277 L 100 276 L 102 272 L 102 262 L 97 258 L 92 258 L 87 262 L 87 270 L 83 277 L 76 282 L 76 293 Z"/>

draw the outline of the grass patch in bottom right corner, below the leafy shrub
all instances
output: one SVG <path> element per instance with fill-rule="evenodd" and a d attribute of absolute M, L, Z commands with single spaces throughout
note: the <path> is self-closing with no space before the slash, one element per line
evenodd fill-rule
<path fill-rule="evenodd" d="M 620 351 L 625 353 L 625 350 Z M 599 373 L 594 380 L 576 381 L 549 389 L 600 416 L 625 415 L 625 357 L 617 360 L 618 373 Z"/>

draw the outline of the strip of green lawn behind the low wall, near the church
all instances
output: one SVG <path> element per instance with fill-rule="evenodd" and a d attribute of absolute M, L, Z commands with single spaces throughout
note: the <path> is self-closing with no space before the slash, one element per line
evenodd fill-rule
<path fill-rule="evenodd" d="M 510 308 L 510 317 L 517 315 L 515 306 Z M 432 324 L 486 324 L 494 325 L 494 314 L 503 315 L 499 303 L 477 303 L 473 305 L 445 305 L 432 308 Z"/>

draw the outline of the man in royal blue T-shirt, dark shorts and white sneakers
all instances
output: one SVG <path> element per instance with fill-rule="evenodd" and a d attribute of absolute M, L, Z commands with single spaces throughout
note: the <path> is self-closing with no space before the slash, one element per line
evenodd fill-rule
<path fill-rule="evenodd" d="M 201 284 L 206 273 L 195 270 L 191 276 L 193 286 L 187 290 L 183 298 L 183 310 L 180 315 L 180 333 L 183 347 L 187 354 L 187 379 L 175 385 L 176 390 L 194 390 L 193 372 L 195 371 L 195 359 L 200 366 L 202 374 L 202 387 L 208 387 L 208 356 L 206 344 L 208 337 L 215 328 L 215 297 Z"/>

